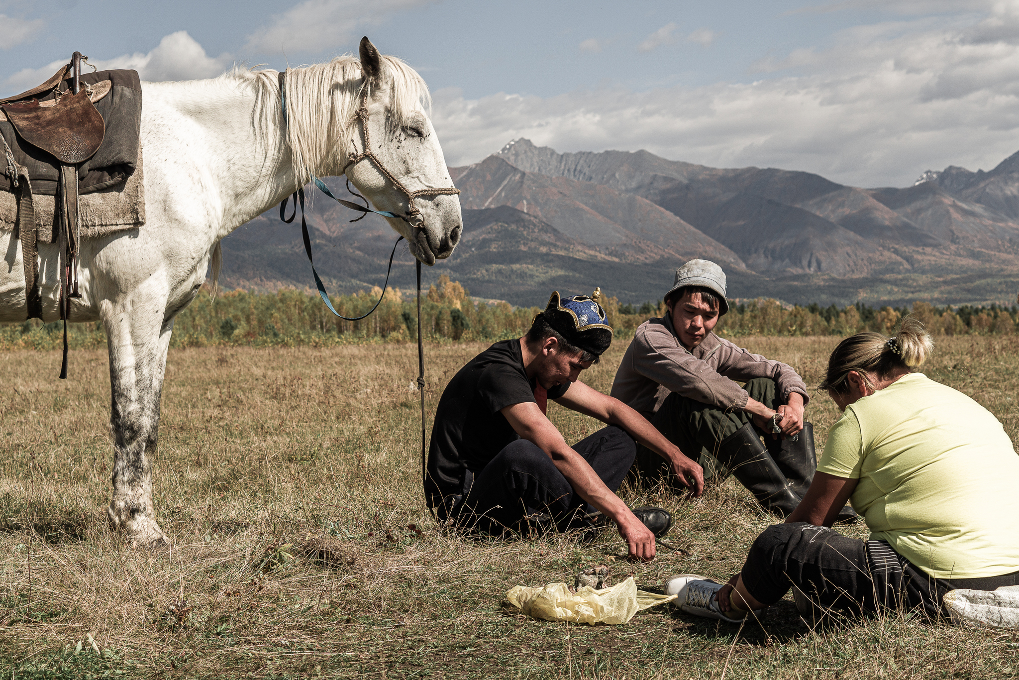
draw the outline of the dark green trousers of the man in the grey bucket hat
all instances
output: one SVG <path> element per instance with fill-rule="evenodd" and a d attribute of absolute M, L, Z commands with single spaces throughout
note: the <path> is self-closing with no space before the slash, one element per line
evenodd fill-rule
<path fill-rule="evenodd" d="M 774 410 L 785 404 L 776 398 L 775 383 L 771 378 L 754 378 L 743 388 L 751 399 L 769 409 Z M 750 422 L 751 415 L 745 411 L 723 411 L 675 391 L 665 398 L 651 419 L 651 424 L 666 439 L 704 467 L 705 479 L 716 472 L 713 455 L 718 451 L 718 444 Z M 770 446 L 770 437 L 764 440 Z M 707 456 L 703 455 L 705 453 Z M 677 490 L 686 488 L 672 474 L 667 461 L 644 446 L 638 447 L 631 482 L 651 486 L 662 480 Z"/>

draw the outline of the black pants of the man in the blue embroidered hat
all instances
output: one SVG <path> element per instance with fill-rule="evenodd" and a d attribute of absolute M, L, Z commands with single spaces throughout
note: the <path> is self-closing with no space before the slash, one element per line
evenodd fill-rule
<path fill-rule="evenodd" d="M 612 492 L 623 483 L 637 444 L 626 431 L 608 426 L 573 447 Z M 593 508 L 584 508 L 548 454 L 517 439 L 475 473 L 457 524 L 493 535 L 518 530 L 526 517 L 547 515 L 560 528 Z"/>

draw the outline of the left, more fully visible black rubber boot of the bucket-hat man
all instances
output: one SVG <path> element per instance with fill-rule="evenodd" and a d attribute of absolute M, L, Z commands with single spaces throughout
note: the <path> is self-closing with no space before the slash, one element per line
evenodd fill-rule
<path fill-rule="evenodd" d="M 715 458 L 775 515 L 786 517 L 800 505 L 800 496 L 789 487 L 753 425 L 748 423 L 722 439 Z"/>

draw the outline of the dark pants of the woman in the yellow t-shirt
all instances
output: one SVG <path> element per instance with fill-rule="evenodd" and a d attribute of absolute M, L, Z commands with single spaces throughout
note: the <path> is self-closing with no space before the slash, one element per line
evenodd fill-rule
<path fill-rule="evenodd" d="M 747 591 L 762 605 L 773 605 L 795 585 L 823 608 L 857 613 L 919 608 L 931 617 L 941 615 L 942 599 L 949 590 L 995 590 L 1019 584 L 1019 572 L 987 578 L 934 578 L 887 541 L 850 538 L 806 522 L 765 529 L 750 547 L 741 575 Z"/>

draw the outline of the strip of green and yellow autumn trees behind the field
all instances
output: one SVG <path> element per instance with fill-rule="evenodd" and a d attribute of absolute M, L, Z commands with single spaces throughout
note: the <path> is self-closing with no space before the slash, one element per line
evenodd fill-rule
<path fill-rule="evenodd" d="M 344 316 L 360 316 L 371 309 L 381 291 L 331 298 Z M 643 305 L 620 305 L 615 298 L 603 301 L 608 322 L 616 336 L 629 337 L 649 317 L 661 316 L 661 301 Z M 445 275 L 422 300 L 422 323 L 430 342 L 484 341 L 517 337 L 530 327 L 537 307 L 514 308 L 505 302 L 485 303 L 470 298 L 458 281 Z M 900 319 L 914 314 L 933 335 L 1003 334 L 1016 331 L 1019 308 L 933 307 L 922 301 L 912 308 L 875 309 L 862 303 L 847 307 L 784 305 L 775 300 L 731 301 L 715 332 L 723 337 L 739 335 L 849 335 L 870 329 L 895 330 Z M 417 339 L 417 305 L 413 292 L 390 289 L 374 314 L 363 321 L 334 317 L 317 295 L 285 290 L 276 294 L 233 291 L 215 300 L 205 290 L 173 325 L 170 347 L 208 346 L 332 346 L 354 343 L 407 343 Z M 52 350 L 62 342 L 62 323 L 39 320 L 0 326 L 0 350 Z M 69 325 L 71 347 L 105 347 L 102 323 Z"/>

